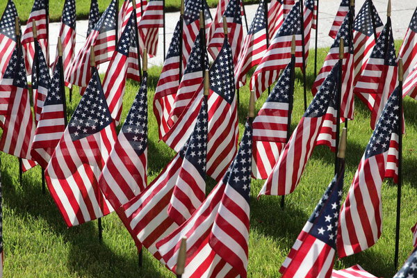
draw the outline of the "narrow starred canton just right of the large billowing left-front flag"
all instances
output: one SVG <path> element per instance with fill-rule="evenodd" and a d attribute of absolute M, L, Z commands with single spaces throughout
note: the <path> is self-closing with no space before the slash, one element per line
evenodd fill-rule
<path fill-rule="evenodd" d="M 122 132 L 140 156 L 147 148 L 147 73 L 143 72 L 142 84 L 122 126 Z"/>

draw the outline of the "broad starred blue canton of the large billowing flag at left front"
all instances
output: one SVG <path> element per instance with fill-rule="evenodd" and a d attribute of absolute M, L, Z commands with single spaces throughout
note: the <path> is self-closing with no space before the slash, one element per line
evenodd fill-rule
<path fill-rule="evenodd" d="M 85 93 L 68 123 L 73 141 L 88 137 L 111 124 L 112 118 L 97 70 L 92 74 Z"/>

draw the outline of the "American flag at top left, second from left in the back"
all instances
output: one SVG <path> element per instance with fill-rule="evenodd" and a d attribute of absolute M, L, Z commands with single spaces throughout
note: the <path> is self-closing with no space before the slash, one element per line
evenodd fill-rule
<path fill-rule="evenodd" d="M 35 56 L 35 46 L 33 44 L 33 20 L 36 24 L 36 33 L 38 35 L 38 42 L 44 55 L 47 57 L 49 64 L 49 45 L 47 26 L 49 24 L 49 0 L 35 0 L 31 14 L 29 15 L 26 29 L 22 35 L 22 45 L 24 48 L 24 60 L 26 65 L 26 72 L 32 73 L 33 57 Z"/>

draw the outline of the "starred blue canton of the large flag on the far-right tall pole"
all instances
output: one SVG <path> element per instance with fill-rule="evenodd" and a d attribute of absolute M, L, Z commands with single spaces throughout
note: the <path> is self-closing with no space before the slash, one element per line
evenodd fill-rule
<path fill-rule="evenodd" d="M 395 88 L 388 101 L 386 101 L 384 111 L 382 111 L 381 117 L 379 117 L 368 146 L 366 146 L 366 158 L 387 152 L 391 141 L 391 134 L 398 133 L 398 124 L 400 121 L 400 117 L 398 116 L 400 109 L 398 106 L 399 92 L 398 87 Z"/>

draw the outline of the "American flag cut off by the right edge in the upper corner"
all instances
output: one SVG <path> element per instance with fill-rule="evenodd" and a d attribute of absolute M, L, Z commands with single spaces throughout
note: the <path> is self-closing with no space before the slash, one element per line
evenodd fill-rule
<path fill-rule="evenodd" d="M 417 8 L 411 17 L 409 28 L 405 33 L 398 57 L 402 58 L 404 79 L 407 78 L 411 70 L 417 65 Z"/>

